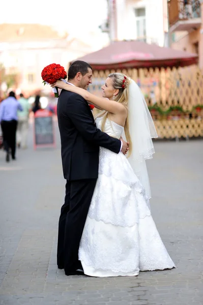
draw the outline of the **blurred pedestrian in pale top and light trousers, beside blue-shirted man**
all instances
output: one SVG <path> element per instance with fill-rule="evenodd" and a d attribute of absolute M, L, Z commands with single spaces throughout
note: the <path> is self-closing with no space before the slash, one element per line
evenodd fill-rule
<path fill-rule="evenodd" d="M 27 147 L 28 119 L 31 106 L 22 93 L 20 94 L 18 102 L 23 110 L 18 110 L 17 146 L 25 149 Z"/>

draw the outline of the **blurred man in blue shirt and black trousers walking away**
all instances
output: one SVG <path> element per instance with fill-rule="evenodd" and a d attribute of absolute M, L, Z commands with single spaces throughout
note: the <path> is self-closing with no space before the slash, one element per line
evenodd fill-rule
<path fill-rule="evenodd" d="M 22 106 L 11 91 L 9 97 L 0 104 L 0 122 L 3 133 L 4 148 L 6 150 L 6 161 L 10 161 L 9 150 L 11 148 L 12 159 L 15 160 L 16 129 L 18 123 L 17 110 L 22 111 Z"/>

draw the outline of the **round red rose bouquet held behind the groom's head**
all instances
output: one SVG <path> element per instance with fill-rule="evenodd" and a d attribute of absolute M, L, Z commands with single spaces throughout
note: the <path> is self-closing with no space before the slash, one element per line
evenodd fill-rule
<path fill-rule="evenodd" d="M 64 67 L 62 67 L 61 65 L 51 64 L 51 65 L 46 66 L 42 70 L 41 76 L 43 79 L 43 83 L 45 85 L 45 84 L 53 84 L 58 79 L 66 79 L 67 73 L 66 73 Z M 54 92 L 54 97 L 58 98 L 59 90 L 57 87 L 53 88 L 53 92 Z"/>

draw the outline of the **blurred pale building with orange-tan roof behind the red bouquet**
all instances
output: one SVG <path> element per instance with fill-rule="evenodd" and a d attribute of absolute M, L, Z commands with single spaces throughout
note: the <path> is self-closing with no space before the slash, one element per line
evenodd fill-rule
<path fill-rule="evenodd" d="M 0 63 L 3 90 L 12 87 L 32 94 L 42 85 L 41 72 L 51 63 L 67 70 L 71 59 L 93 50 L 90 44 L 42 24 L 0 24 Z"/>

